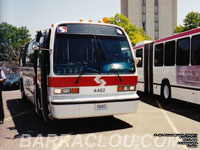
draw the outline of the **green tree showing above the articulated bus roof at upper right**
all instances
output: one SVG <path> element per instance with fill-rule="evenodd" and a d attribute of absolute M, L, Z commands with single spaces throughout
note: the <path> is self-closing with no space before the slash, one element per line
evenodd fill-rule
<path fill-rule="evenodd" d="M 198 28 L 200 25 L 200 13 L 198 12 L 190 12 L 186 15 L 185 19 L 183 20 L 184 25 L 177 26 L 174 29 L 175 33 L 180 33 L 183 31 L 188 31 L 191 29 Z"/>

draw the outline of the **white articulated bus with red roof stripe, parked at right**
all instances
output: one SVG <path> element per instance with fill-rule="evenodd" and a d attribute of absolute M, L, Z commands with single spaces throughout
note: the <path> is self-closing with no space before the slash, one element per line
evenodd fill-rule
<path fill-rule="evenodd" d="M 138 90 L 200 104 L 200 28 L 138 43 Z"/>

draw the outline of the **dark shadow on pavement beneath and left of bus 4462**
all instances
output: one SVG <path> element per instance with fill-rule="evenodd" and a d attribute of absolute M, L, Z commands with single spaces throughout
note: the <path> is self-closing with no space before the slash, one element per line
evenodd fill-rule
<path fill-rule="evenodd" d="M 48 134 L 85 134 L 120 130 L 132 128 L 133 126 L 115 117 L 98 117 L 84 119 L 66 119 L 54 120 L 44 123 L 39 119 L 34 111 L 34 106 L 29 101 L 21 99 L 7 100 L 7 107 L 12 116 L 14 127 L 8 127 L 9 130 L 17 130 L 20 138 L 23 134 L 36 137 L 38 134 L 48 136 Z"/>

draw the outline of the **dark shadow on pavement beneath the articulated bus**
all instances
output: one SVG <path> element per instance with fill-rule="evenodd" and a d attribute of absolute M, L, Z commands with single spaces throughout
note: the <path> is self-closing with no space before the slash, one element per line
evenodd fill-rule
<path fill-rule="evenodd" d="M 146 104 L 159 108 L 158 104 L 156 103 L 156 100 L 158 100 L 164 110 L 200 122 L 200 105 L 188 103 L 177 99 L 172 99 L 171 101 L 166 103 L 160 100 L 159 96 L 145 95 L 141 92 L 139 92 L 138 94 L 141 101 Z"/>

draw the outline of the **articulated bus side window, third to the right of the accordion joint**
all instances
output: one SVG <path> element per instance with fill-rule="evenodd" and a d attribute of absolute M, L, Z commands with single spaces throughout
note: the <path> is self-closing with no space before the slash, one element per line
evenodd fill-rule
<path fill-rule="evenodd" d="M 177 42 L 176 64 L 178 66 L 189 65 L 190 38 L 180 39 Z"/>

